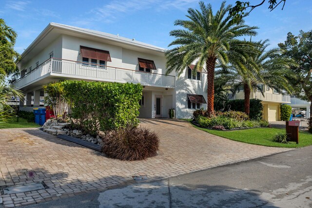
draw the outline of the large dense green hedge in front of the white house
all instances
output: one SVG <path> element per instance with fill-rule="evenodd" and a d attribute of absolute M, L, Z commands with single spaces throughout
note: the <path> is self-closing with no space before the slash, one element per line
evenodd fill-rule
<path fill-rule="evenodd" d="M 78 129 L 95 135 L 138 125 L 140 84 L 66 80 L 62 85 Z"/>

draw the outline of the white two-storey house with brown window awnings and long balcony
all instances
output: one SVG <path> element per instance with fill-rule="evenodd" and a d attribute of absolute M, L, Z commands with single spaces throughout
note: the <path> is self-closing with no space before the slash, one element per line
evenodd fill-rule
<path fill-rule="evenodd" d="M 14 85 L 25 93 L 26 105 L 37 106 L 43 86 L 60 79 L 140 83 L 139 117 L 169 117 L 175 109 L 177 118 L 190 118 L 195 109 L 206 109 L 207 77 L 193 76 L 191 69 L 180 77 L 164 75 L 165 52 L 135 39 L 50 23 L 22 53 Z"/>

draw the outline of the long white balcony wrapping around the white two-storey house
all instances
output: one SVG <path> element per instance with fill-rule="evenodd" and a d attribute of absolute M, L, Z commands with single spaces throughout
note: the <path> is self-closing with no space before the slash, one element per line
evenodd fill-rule
<path fill-rule="evenodd" d="M 84 79 L 107 82 L 132 82 L 145 86 L 175 88 L 175 76 L 141 72 L 110 66 L 91 65 L 82 62 L 51 58 L 37 68 L 20 77 L 14 85 L 22 89 L 45 77 L 59 77 L 63 79 Z M 46 83 L 45 83 L 46 84 Z"/>

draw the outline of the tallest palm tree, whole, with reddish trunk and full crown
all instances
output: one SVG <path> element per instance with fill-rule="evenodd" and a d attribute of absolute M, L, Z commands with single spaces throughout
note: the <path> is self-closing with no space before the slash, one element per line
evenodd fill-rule
<path fill-rule="evenodd" d="M 242 36 L 255 36 L 257 27 L 250 27 L 241 19 L 238 22 L 231 20 L 228 11 L 232 5 L 222 2 L 220 9 L 213 13 L 211 4 L 207 6 L 203 1 L 199 2 L 200 11 L 188 9 L 188 20 L 176 20 L 175 25 L 184 29 L 176 29 L 170 32 L 170 36 L 176 39 L 169 46 L 175 48 L 166 53 L 167 74 L 176 71 L 178 76 L 195 62 L 194 73 L 201 71 L 203 67 L 207 71 L 207 111 L 214 114 L 214 78 L 216 62 L 226 64 L 229 61 L 228 52 L 234 46 L 242 46 L 243 50 L 249 47 L 252 50 L 253 43 L 239 40 Z"/>

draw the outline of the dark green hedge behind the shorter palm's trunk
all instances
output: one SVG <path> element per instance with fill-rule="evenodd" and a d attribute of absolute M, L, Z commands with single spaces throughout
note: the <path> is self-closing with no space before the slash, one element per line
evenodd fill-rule
<path fill-rule="evenodd" d="M 230 107 L 230 106 L 231 107 Z M 244 99 L 229 100 L 226 107 L 230 107 L 232 111 L 244 112 Z M 226 108 L 225 110 L 228 110 Z M 251 120 L 261 120 L 262 119 L 263 105 L 259 99 L 250 99 L 250 113 L 249 117 Z"/>

